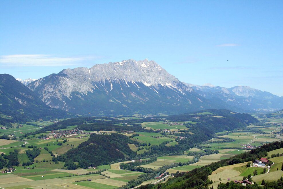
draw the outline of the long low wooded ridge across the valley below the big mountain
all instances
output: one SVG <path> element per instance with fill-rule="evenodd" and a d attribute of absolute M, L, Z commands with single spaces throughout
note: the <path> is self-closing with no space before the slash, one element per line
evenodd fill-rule
<path fill-rule="evenodd" d="M 154 130 L 144 129 L 141 126 L 142 122 L 159 122 L 159 121 L 193 121 L 198 122 L 198 125 L 211 129 L 210 133 L 216 133 L 219 130 L 233 130 L 235 128 L 243 128 L 246 124 L 256 123 L 258 120 L 249 114 L 240 114 L 231 112 L 230 110 L 202 110 L 187 114 L 148 117 L 140 119 L 117 119 L 110 117 L 79 117 L 63 120 L 52 125 L 46 126 L 36 133 L 44 133 L 46 131 L 64 129 L 68 126 L 77 125 L 80 130 L 131 130 L 135 132 L 155 132 Z M 126 126 L 126 124 L 129 124 Z"/>

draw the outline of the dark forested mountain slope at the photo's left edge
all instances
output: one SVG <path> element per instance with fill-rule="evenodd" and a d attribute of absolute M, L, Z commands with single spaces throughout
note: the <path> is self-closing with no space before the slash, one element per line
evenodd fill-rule
<path fill-rule="evenodd" d="M 12 116 L 15 121 L 68 117 L 66 112 L 44 104 L 29 88 L 8 74 L 0 74 L 0 113 Z"/>

